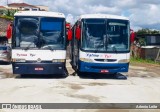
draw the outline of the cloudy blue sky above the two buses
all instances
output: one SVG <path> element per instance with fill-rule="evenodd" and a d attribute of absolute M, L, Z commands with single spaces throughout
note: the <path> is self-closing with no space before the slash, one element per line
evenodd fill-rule
<path fill-rule="evenodd" d="M 0 6 L 7 0 L 0 0 Z M 131 28 L 160 30 L 160 0 L 8 0 L 9 3 L 46 5 L 50 11 L 64 13 L 67 21 L 74 24 L 81 14 L 103 13 L 125 16 Z"/>

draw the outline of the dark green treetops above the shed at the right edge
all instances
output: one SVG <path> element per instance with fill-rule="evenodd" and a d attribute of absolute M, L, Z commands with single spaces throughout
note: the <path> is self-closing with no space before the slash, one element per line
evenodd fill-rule
<path fill-rule="evenodd" d="M 136 32 L 137 35 L 143 35 L 143 34 L 160 34 L 160 31 L 158 30 L 150 30 L 148 28 L 140 29 Z"/>

